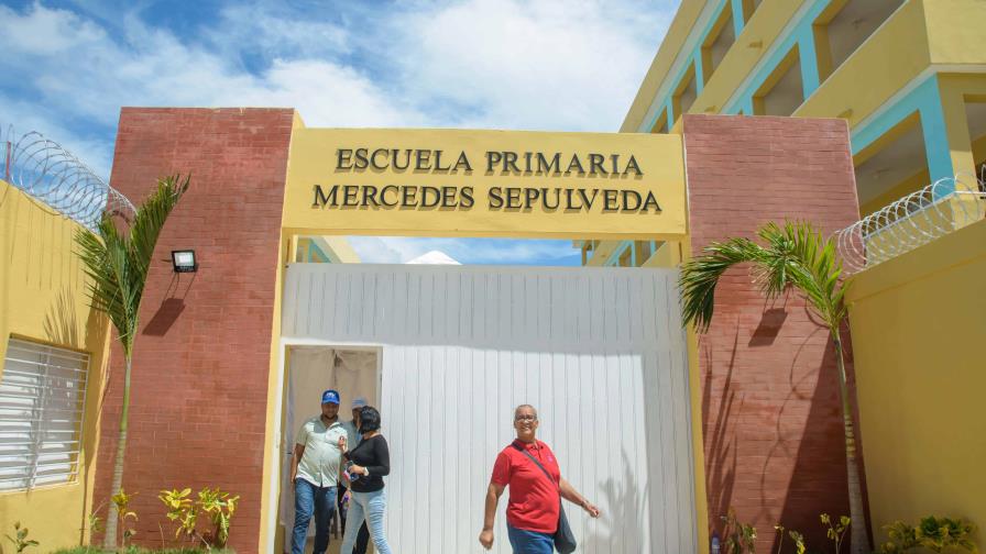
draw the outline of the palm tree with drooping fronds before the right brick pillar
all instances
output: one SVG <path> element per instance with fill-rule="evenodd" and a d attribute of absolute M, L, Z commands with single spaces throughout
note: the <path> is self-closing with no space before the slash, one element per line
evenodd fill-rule
<path fill-rule="evenodd" d="M 850 517 L 853 553 L 869 552 L 863 488 L 856 463 L 856 437 L 845 379 L 845 362 L 840 329 L 846 318 L 845 293 L 851 282 L 841 279 L 842 262 L 835 254 L 835 241 L 822 237 L 809 223 L 764 225 L 757 235 L 762 246 L 748 239 L 730 239 L 706 246 L 702 255 L 682 264 L 679 287 L 686 324 L 704 332 L 712 321 L 715 286 L 726 269 L 736 264 L 753 265 L 754 282 L 767 298 L 776 298 L 789 288 L 804 295 L 808 306 L 829 328 L 839 364 L 839 396 L 845 430 L 845 463 L 848 476 Z"/>

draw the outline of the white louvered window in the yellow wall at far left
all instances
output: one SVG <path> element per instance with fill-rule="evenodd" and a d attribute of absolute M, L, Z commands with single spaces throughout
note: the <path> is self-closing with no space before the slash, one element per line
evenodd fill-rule
<path fill-rule="evenodd" d="M 0 378 L 0 490 L 78 474 L 89 356 L 11 337 Z"/>

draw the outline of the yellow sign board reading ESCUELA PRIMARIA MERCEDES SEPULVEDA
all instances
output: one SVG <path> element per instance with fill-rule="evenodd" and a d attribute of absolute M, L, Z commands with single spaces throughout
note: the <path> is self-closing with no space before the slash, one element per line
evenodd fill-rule
<path fill-rule="evenodd" d="M 679 135 L 305 129 L 284 226 L 318 234 L 680 239 Z"/>

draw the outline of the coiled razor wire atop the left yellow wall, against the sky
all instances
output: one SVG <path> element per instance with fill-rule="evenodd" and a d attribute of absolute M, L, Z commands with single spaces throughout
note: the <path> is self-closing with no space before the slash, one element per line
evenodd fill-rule
<path fill-rule="evenodd" d="M 133 219 L 133 203 L 61 144 L 37 131 L 18 136 L 0 126 L 3 180 L 83 226 L 94 230 L 103 213 Z"/>

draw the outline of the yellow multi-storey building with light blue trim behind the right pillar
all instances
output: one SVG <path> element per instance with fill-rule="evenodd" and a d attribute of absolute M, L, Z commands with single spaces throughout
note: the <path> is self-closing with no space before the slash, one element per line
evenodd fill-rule
<path fill-rule="evenodd" d="M 682 113 L 844 119 L 861 215 L 939 179 L 974 182 L 984 18 L 977 0 L 684 1 L 621 131 L 680 132 Z M 587 265 L 640 266 L 660 245 L 576 246 Z"/>

